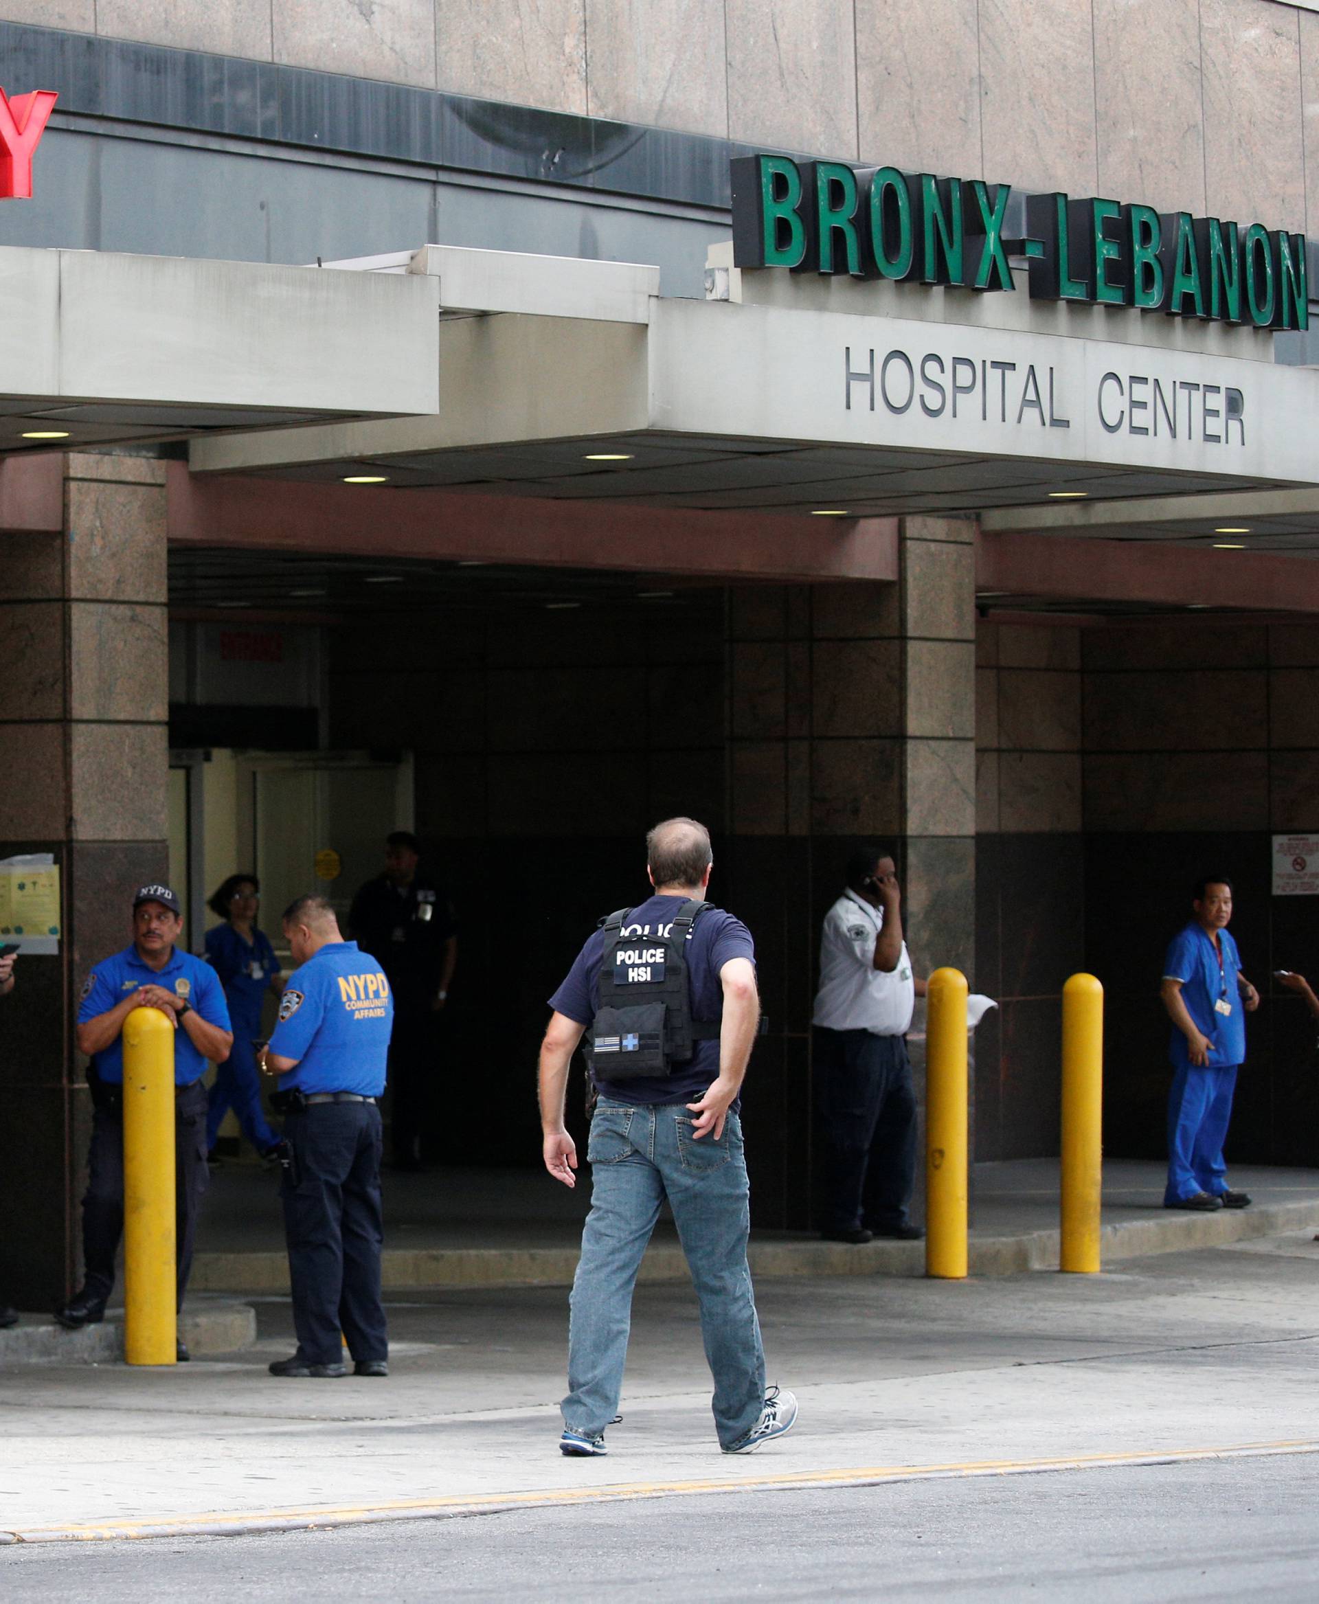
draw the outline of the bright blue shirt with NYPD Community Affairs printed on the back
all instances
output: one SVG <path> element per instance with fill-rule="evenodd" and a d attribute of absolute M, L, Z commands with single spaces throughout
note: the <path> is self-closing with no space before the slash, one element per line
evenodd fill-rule
<path fill-rule="evenodd" d="M 327 942 L 289 975 L 270 1051 L 297 1059 L 279 1091 L 359 1092 L 385 1089 L 393 1030 L 390 983 L 356 942 Z"/>

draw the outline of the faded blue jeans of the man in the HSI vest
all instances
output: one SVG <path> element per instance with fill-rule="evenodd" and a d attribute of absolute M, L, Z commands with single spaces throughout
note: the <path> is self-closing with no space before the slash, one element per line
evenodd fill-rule
<path fill-rule="evenodd" d="M 594 1436 L 618 1413 L 637 1282 L 664 1198 L 701 1306 L 714 1376 L 714 1428 L 727 1448 L 759 1421 L 765 1355 L 751 1294 L 751 1229 L 741 1123 L 698 1140 L 682 1104 L 643 1107 L 602 1097 L 591 1121 L 591 1214 L 573 1278 L 563 1424 Z"/>

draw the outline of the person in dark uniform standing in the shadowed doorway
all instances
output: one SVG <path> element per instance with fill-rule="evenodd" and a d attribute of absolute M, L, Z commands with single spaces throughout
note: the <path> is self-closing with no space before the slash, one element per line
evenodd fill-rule
<path fill-rule="evenodd" d="M 385 970 L 395 1001 L 390 1044 L 390 1150 L 396 1169 L 420 1169 L 435 1124 L 438 1015 L 457 962 L 457 924 L 444 892 L 419 874 L 417 837 L 396 829 L 385 873 L 353 898 L 348 935 Z"/>

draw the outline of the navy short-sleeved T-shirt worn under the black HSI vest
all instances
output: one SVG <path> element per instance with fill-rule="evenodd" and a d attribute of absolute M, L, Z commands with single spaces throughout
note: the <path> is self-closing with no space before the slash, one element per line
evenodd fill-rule
<path fill-rule="evenodd" d="M 651 897 L 634 908 L 623 921 L 626 935 L 668 935 L 674 916 L 687 901 L 685 897 Z M 730 958 L 746 958 L 756 962 L 756 943 L 751 932 L 722 908 L 708 908 L 692 926 L 687 937 L 687 977 L 692 986 L 692 1019 L 716 1020 L 724 1011 L 724 988 L 719 970 Z M 605 932 L 595 930 L 578 953 L 568 970 L 568 978 L 549 999 L 555 1014 L 589 1025 L 600 1006 L 600 962 L 605 956 Z M 698 1041 L 687 1063 L 674 1065 L 672 1075 L 635 1081 L 605 1081 L 592 1073 L 603 1097 L 632 1104 L 687 1104 L 698 1102 L 719 1078 L 719 1043 Z M 733 1102 L 738 1108 L 738 1102 Z"/>

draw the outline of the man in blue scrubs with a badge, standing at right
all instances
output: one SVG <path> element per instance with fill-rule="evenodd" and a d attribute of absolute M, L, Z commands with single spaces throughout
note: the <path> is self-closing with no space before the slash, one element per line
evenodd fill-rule
<path fill-rule="evenodd" d="M 1160 990 L 1173 1022 L 1168 1055 L 1176 1071 L 1168 1094 L 1163 1208 L 1248 1208 L 1245 1192 L 1228 1185 L 1223 1142 L 1245 1062 L 1245 1015 L 1260 1006 L 1260 993 L 1242 974 L 1228 934 L 1232 882 L 1221 876 L 1199 881 L 1191 906 L 1195 917 L 1173 937 Z"/>

